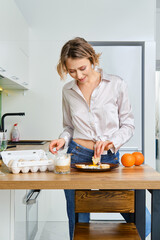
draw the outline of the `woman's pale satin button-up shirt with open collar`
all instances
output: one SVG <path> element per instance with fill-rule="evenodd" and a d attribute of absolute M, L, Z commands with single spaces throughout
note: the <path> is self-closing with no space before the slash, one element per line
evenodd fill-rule
<path fill-rule="evenodd" d="M 71 138 L 113 142 L 115 152 L 134 133 L 134 117 L 128 99 L 127 86 L 119 76 L 105 74 L 94 89 L 90 106 L 87 104 L 77 81 L 63 87 L 63 126 L 59 138 L 68 146 Z"/>

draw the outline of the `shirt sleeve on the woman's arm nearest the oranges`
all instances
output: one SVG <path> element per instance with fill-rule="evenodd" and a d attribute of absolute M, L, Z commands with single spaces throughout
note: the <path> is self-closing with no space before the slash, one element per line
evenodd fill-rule
<path fill-rule="evenodd" d="M 117 152 L 118 149 L 128 142 L 128 140 L 133 136 L 135 126 L 134 126 L 134 116 L 132 113 L 132 108 L 129 102 L 127 84 L 122 80 L 119 88 L 118 95 L 118 116 L 119 116 L 119 130 L 114 132 L 114 134 L 109 139 L 114 144 L 114 151 Z"/>

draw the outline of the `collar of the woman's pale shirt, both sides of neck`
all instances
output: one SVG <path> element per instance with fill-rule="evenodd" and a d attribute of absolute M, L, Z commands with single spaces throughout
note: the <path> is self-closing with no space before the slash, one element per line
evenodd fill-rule
<path fill-rule="evenodd" d="M 103 80 L 107 81 L 107 82 L 111 81 L 111 78 L 112 78 L 111 75 L 105 73 L 102 68 L 97 68 L 96 71 L 101 73 L 101 81 L 103 81 Z M 77 86 L 76 80 L 72 80 L 72 81 L 68 82 L 65 86 L 65 88 L 67 88 L 67 89 L 77 89 L 77 87 L 78 86 Z"/>

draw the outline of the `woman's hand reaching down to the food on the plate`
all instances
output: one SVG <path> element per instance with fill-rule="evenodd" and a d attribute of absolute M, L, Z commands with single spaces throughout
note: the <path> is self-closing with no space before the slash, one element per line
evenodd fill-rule
<path fill-rule="evenodd" d="M 100 157 L 104 150 L 108 151 L 110 148 L 114 147 L 113 143 L 109 140 L 107 141 L 97 141 L 94 149 L 94 157 Z"/>

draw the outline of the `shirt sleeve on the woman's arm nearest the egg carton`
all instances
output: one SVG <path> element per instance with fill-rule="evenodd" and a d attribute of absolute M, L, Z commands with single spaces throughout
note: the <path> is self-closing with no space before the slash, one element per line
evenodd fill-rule
<path fill-rule="evenodd" d="M 63 132 L 60 134 L 59 138 L 64 138 L 65 145 L 64 148 L 68 147 L 70 140 L 73 136 L 73 125 L 70 113 L 70 107 L 65 97 L 64 90 L 62 92 L 62 111 L 63 111 Z"/>

